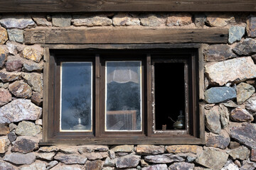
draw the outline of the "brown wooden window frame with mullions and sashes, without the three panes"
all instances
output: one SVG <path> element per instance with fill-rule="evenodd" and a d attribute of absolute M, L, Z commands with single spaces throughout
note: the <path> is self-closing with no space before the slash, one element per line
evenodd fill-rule
<path fill-rule="evenodd" d="M 119 47 L 117 47 L 119 46 Z M 132 50 L 134 45 L 102 45 L 99 49 L 92 50 L 90 47 L 79 48 L 72 46 L 73 50 L 68 45 L 59 46 L 52 45 L 51 49 L 45 47 L 44 52 L 44 74 L 43 74 L 43 140 L 41 145 L 56 145 L 56 144 L 71 144 L 71 145 L 136 145 L 136 144 L 155 144 L 155 145 L 172 145 L 172 144 L 204 144 L 204 109 L 203 103 L 200 103 L 200 99 L 203 99 L 203 55 L 202 47 L 199 44 L 187 44 L 187 45 L 157 45 L 157 49 L 151 45 L 139 45 L 139 49 Z M 58 48 L 58 50 L 55 50 Z M 136 47 L 137 48 L 137 47 Z M 128 49 L 128 50 L 127 50 Z M 114 135 L 111 132 L 102 131 L 102 120 L 100 119 L 102 111 L 102 57 L 108 58 L 110 54 L 114 54 L 114 58 L 122 60 L 118 57 L 118 54 L 135 55 L 142 58 L 142 66 L 144 66 L 144 107 L 142 120 L 142 132 L 120 132 L 118 135 Z M 58 121 L 58 89 L 59 85 L 56 83 L 56 77 L 58 77 L 58 57 L 74 56 L 94 56 L 94 104 L 93 104 L 93 134 L 85 132 L 59 132 L 58 125 L 55 125 L 55 121 Z M 137 55 L 139 54 L 139 55 Z M 181 134 L 179 131 L 166 132 L 164 135 L 155 134 L 152 130 L 153 123 L 153 107 L 151 95 L 152 86 L 152 61 L 154 55 L 186 55 L 191 57 L 191 115 L 189 121 L 190 130 L 187 134 Z M 142 57 L 143 56 L 143 57 Z M 150 90 L 149 90 L 150 89 Z M 104 89 L 103 89 L 104 90 Z M 57 102 L 56 102 L 57 101 Z M 103 122 L 104 123 L 104 122 Z M 115 132 L 117 134 L 117 132 Z"/>

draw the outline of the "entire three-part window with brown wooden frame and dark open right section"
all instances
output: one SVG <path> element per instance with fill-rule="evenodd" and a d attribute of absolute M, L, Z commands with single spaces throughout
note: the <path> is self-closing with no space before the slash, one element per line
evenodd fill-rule
<path fill-rule="evenodd" d="M 45 144 L 203 143 L 198 48 L 47 52 Z"/>

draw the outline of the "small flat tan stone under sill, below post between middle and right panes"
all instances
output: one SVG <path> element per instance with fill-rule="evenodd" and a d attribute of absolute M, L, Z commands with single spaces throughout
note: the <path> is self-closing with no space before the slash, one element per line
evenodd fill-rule
<path fill-rule="evenodd" d="M 164 145 L 138 145 L 136 152 L 138 154 L 164 154 Z"/>

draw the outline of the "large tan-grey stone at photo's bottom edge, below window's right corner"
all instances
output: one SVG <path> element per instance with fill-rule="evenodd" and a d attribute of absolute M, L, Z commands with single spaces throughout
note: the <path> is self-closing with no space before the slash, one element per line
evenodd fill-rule
<path fill-rule="evenodd" d="M 216 150 L 206 149 L 196 159 L 196 163 L 210 169 L 221 169 L 228 160 L 228 154 Z"/>

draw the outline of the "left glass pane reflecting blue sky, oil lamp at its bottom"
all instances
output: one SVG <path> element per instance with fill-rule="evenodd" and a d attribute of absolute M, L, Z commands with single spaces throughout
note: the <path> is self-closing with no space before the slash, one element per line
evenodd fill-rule
<path fill-rule="evenodd" d="M 92 62 L 61 63 L 60 130 L 92 130 Z"/>

